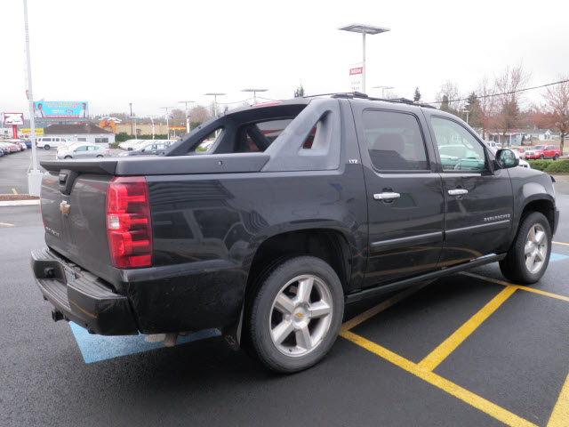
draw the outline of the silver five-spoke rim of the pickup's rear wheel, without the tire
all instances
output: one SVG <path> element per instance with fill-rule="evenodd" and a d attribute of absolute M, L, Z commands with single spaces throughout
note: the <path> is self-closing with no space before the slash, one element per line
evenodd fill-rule
<path fill-rule="evenodd" d="M 323 341 L 332 318 L 332 294 L 325 282 L 298 276 L 276 294 L 268 318 L 270 337 L 284 355 L 305 356 Z"/>

